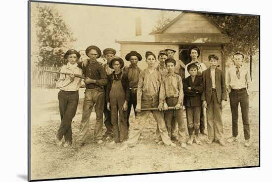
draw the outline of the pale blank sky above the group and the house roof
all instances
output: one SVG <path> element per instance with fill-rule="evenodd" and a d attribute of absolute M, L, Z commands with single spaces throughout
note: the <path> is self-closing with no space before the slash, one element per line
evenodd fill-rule
<path fill-rule="evenodd" d="M 77 41 L 74 42 L 71 48 L 85 50 L 90 45 L 96 45 L 103 50 L 104 48 L 112 47 L 117 50 L 117 56 L 120 55 L 120 44 L 115 43 L 115 40 L 136 35 L 136 18 L 139 17 L 141 19 L 142 35 L 148 35 L 152 32 L 160 15 L 160 10 L 150 9 L 42 4 L 50 5 L 57 9 L 65 23 L 70 27 L 74 37 L 77 38 Z M 167 11 L 165 13 L 171 17 L 176 17 L 181 12 Z M 33 16 L 34 23 L 35 13 Z M 32 27 L 32 30 L 35 30 L 34 27 Z"/>

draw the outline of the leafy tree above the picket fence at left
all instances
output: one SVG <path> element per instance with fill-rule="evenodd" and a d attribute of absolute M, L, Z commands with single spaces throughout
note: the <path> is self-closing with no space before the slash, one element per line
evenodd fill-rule
<path fill-rule="evenodd" d="M 53 7 L 37 5 L 38 21 L 37 39 L 39 46 L 39 66 L 62 66 L 65 63 L 63 54 L 76 39 Z"/>

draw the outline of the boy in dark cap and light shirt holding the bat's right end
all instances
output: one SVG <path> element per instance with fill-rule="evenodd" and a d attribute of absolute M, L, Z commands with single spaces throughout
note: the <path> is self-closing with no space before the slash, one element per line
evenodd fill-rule
<path fill-rule="evenodd" d="M 164 119 L 166 123 L 166 128 L 169 137 L 171 137 L 172 130 L 174 130 L 174 128 L 172 128 L 172 123 L 176 122 L 177 120 L 179 126 L 179 142 L 181 143 L 181 147 L 185 148 L 186 134 L 182 109 L 182 78 L 175 73 L 176 61 L 173 58 L 166 59 L 165 65 L 168 73 L 162 77 L 160 99 L 164 101 L 163 109 L 165 110 Z M 174 106 L 175 110 L 168 110 L 168 106 Z"/>

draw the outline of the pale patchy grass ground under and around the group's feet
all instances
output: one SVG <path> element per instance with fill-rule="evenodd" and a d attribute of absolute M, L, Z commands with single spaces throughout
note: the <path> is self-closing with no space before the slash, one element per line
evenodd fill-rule
<path fill-rule="evenodd" d="M 91 115 L 89 144 L 81 148 L 58 147 L 54 135 L 60 124 L 57 90 L 33 89 L 31 101 L 31 179 L 70 178 L 113 174 L 131 174 L 193 169 L 259 165 L 259 93 L 250 97 L 251 146 L 243 146 L 243 127 L 239 117 L 238 142 L 222 147 L 206 145 L 207 136 L 200 135 L 202 145 L 185 149 L 155 144 L 156 123 L 150 115 L 143 131 L 144 138 L 136 147 L 120 151 L 121 144 L 102 145 L 93 142 L 94 113 Z M 84 92 L 80 91 L 77 114 L 72 122 L 73 140 L 78 139 Z M 231 136 L 229 102 L 223 110 L 224 136 Z M 132 111 L 133 112 L 133 111 Z M 239 111 L 240 113 L 240 111 Z M 134 119 L 131 115 L 131 125 Z M 105 130 L 105 127 L 103 128 Z M 187 136 L 188 137 L 188 136 Z M 178 143 L 176 143 L 178 144 Z"/>

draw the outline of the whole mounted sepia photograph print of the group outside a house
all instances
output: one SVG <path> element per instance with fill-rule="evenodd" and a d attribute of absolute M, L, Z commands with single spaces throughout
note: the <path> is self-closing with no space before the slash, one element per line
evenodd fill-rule
<path fill-rule="evenodd" d="M 260 167 L 260 15 L 30 0 L 28 18 L 28 181 Z"/>

